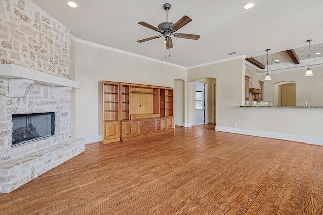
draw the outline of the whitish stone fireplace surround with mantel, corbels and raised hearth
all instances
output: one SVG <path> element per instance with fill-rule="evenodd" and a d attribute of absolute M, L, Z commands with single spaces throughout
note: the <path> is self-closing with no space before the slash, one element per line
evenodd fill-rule
<path fill-rule="evenodd" d="M 85 150 L 84 139 L 71 139 L 70 90 L 79 86 L 69 79 L 0 64 L 1 193 L 17 189 Z M 55 135 L 12 147 L 12 114 L 36 112 L 55 112 Z"/>

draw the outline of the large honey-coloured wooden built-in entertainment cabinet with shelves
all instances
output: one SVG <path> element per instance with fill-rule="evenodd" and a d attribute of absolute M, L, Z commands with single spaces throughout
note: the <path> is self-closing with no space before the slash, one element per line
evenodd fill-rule
<path fill-rule="evenodd" d="M 102 144 L 174 130 L 173 88 L 101 81 L 99 92 Z"/>

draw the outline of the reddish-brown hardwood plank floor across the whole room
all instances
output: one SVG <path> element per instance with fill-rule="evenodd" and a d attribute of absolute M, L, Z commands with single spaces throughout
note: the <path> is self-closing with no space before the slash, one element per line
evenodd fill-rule
<path fill-rule="evenodd" d="M 323 214 L 323 146 L 214 124 L 84 153 L 8 194 L 0 214 Z"/>

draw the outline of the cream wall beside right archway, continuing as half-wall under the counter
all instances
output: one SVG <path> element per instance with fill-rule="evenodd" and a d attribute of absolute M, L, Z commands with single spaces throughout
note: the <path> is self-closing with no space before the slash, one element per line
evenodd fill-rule
<path fill-rule="evenodd" d="M 244 90 L 243 63 L 241 58 L 188 70 L 188 81 L 217 78 L 216 130 L 323 145 L 321 108 L 239 107 Z M 312 82 L 316 83 L 312 80 L 309 84 Z"/>

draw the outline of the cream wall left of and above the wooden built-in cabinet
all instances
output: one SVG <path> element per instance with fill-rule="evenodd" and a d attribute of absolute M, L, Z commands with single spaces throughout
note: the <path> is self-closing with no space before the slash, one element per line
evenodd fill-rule
<path fill-rule="evenodd" d="M 98 82 L 101 80 L 174 87 L 186 80 L 186 69 L 76 41 L 75 135 L 85 143 L 98 141 Z"/>

